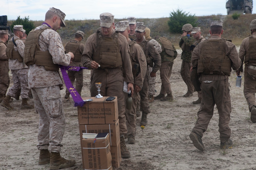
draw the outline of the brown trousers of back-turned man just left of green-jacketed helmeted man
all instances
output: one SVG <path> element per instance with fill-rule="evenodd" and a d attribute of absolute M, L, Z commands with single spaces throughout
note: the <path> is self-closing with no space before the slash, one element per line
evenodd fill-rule
<path fill-rule="evenodd" d="M 160 78 L 162 81 L 160 94 L 171 94 L 171 84 L 170 84 L 170 77 L 172 74 L 173 69 L 173 62 L 171 61 L 163 61 L 160 67 Z"/>

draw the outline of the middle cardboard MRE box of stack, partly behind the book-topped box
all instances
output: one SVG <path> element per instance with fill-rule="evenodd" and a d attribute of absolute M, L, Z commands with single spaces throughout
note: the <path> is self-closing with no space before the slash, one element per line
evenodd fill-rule
<path fill-rule="evenodd" d="M 82 147 L 83 133 L 109 133 L 110 146 L 118 146 L 120 143 L 119 119 L 115 124 L 101 124 L 101 125 L 79 125 L 79 134 Z"/>

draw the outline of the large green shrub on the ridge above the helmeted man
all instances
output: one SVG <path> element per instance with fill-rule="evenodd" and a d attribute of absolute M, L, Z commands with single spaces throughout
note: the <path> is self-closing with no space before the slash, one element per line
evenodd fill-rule
<path fill-rule="evenodd" d="M 168 25 L 171 33 L 182 33 L 182 27 L 185 24 L 191 24 L 193 27 L 196 27 L 197 18 L 192 14 L 183 12 L 180 9 L 170 13 Z"/>

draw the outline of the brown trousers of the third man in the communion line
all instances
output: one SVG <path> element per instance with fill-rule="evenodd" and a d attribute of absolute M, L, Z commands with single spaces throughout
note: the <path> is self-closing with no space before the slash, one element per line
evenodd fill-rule
<path fill-rule="evenodd" d="M 141 91 L 139 92 L 140 98 L 141 98 L 140 99 L 141 110 L 144 113 L 150 113 L 150 108 L 148 103 L 148 88 L 149 88 L 148 77 L 149 77 L 149 72 L 147 69 Z"/>

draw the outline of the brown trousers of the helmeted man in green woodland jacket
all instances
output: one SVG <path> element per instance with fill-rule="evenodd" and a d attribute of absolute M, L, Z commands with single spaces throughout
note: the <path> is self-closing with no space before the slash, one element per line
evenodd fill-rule
<path fill-rule="evenodd" d="M 182 60 L 181 68 L 180 68 L 180 75 L 183 81 L 186 83 L 188 87 L 188 93 L 194 93 L 194 86 L 190 80 L 190 62 Z"/>

